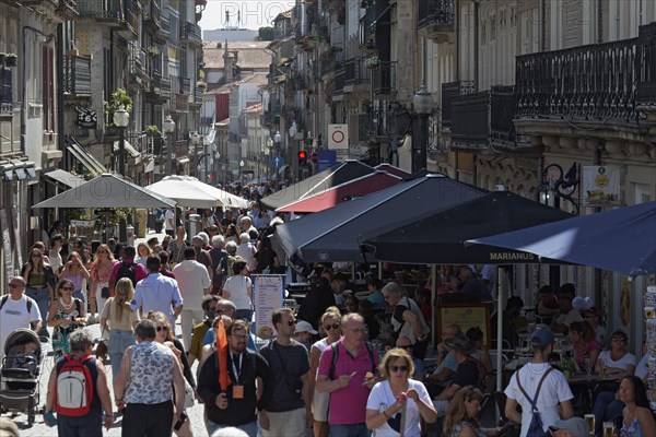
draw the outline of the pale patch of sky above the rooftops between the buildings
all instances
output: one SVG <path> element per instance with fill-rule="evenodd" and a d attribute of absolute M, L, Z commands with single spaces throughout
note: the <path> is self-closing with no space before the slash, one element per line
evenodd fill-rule
<path fill-rule="evenodd" d="M 241 11 L 241 27 L 270 26 L 279 13 L 290 10 L 294 3 L 294 0 L 208 0 L 199 25 L 203 31 L 225 27 L 226 11 L 231 15 L 231 25 L 237 25 L 237 11 Z"/>

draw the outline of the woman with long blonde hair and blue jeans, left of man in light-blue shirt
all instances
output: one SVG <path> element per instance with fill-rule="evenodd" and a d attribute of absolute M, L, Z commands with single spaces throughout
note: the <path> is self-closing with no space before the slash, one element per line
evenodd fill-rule
<path fill-rule="evenodd" d="M 121 277 L 114 288 L 114 297 L 109 297 L 101 315 L 103 338 L 109 332 L 107 354 L 112 359 L 112 379 L 120 371 L 120 362 L 126 350 L 137 344 L 132 335 L 139 321 L 139 315 L 130 310 L 130 302 L 134 297 L 134 287 L 129 277 Z"/>

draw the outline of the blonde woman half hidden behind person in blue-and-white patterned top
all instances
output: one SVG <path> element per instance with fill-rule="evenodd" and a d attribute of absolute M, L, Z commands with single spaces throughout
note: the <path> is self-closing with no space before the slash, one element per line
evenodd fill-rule
<path fill-rule="evenodd" d="M 194 405 L 194 397 L 196 392 L 196 380 L 194 379 L 194 375 L 191 375 L 191 367 L 189 367 L 189 362 L 187 361 L 187 354 L 185 353 L 185 347 L 183 343 L 175 338 L 173 328 L 171 326 L 171 321 L 168 320 L 168 316 L 166 316 L 162 311 L 150 311 L 147 316 L 149 320 L 152 320 L 155 324 L 155 341 L 160 344 L 164 344 L 173 351 L 175 356 L 177 356 L 180 362 L 180 366 L 183 367 L 183 375 L 185 375 L 185 393 L 180 393 L 180 395 L 185 397 L 185 408 L 190 408 Z M 174 393 L 176 397 L 178 393 Z M 177 414 L 178 412 L 176 412 Z M 192 437 L 194 433 L 191 430 L 190 421 L 185 421 L 183 427 L 175 432 L 175 434 L 179 437 Z"/>

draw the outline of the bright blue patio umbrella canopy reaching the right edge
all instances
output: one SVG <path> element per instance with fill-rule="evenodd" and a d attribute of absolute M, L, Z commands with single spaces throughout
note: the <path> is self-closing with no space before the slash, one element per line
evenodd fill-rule
<path fill-rule="evenodd" d="M 656 273 L 656 201 L 467 243 L 535 253 L 631 276 Z"/>

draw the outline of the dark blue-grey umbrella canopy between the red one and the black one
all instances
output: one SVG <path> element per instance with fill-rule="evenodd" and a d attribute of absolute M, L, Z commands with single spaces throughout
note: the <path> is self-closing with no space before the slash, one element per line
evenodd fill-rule
<path fill-rule="evenodd" d="M 277 226 L 276 238 L 290 258 L 305 262 L 362 261 L 360 241 L 376 228 L 394 228 L 399 221 L 434 212 L 485 191 L 442 175 L 401 182 Z"/>

